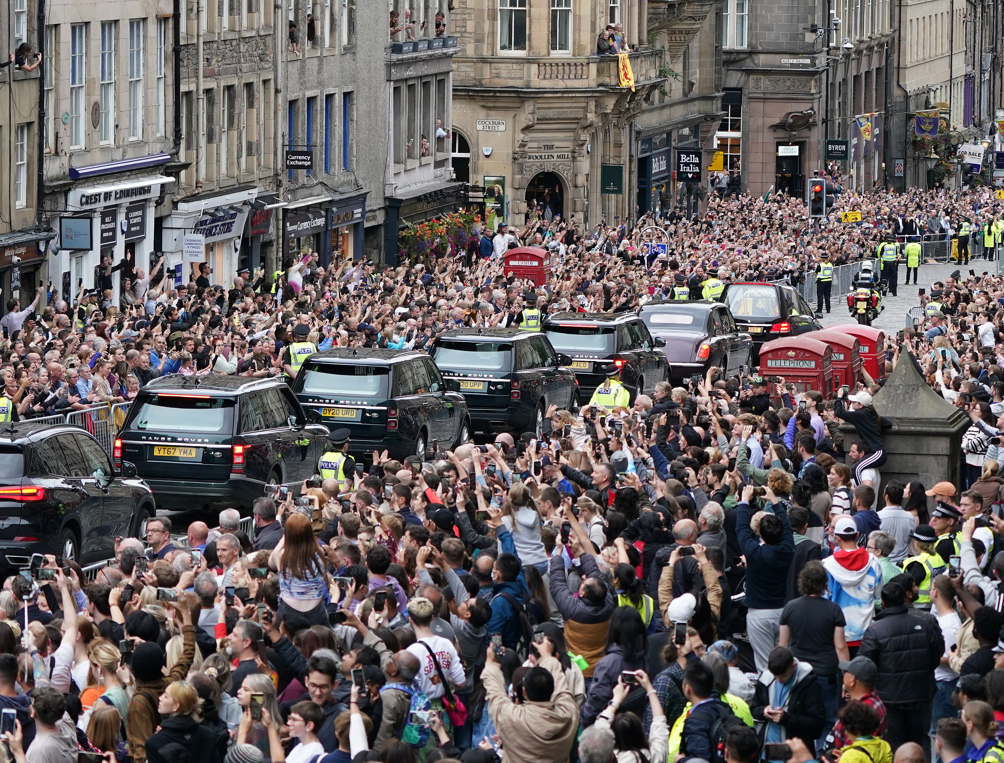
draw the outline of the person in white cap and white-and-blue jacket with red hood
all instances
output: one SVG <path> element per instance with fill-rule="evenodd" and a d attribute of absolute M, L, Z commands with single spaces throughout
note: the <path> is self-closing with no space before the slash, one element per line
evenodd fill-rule
<path fill-rule="evenodd" d="M 866 548 L 857 545 L 857 523 L 852 517 L 837 515 L 833 521 L 833 537 L 839 549 L 822 560 L 830 577 L 829 597 L 843 610 L 847 646 L 858 647 L 874 616 L 874 600 L 882 586 L 882 565 Z"/>

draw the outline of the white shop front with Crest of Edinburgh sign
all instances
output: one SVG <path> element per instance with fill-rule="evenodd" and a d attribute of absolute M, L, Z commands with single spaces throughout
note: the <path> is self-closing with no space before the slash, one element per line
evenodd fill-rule
<path fill-rule="evenodd" d="M 60 279 L 64 299 L 75 298 L 81 284 L 96 287 L 104 257 L 113 265 L 128 258 L 136 268 L 150 267 L 154 213 L 166 187 L 174 182 L 174 178 L 151 175 L 67 191 L 66 211 L 59 219 L 59 251 L 49 266 L 49 277 Z M 117 301 L 120 282 L 113 276 L 111 280 L 112 297 Z"/>

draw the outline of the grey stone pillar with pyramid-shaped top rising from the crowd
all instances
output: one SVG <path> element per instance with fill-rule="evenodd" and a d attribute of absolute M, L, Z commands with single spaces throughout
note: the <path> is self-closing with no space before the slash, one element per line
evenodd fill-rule
<path fill-rule="evenodd" d="M 906 345 L 896 370 L 875 395 L 874 407 L 893 422 L 885 438 L 888 461 L 880 469 L 884 485 L 891 480 L 918 480 L 926 488 L 942 480 L 962 484 L 962 433 L 970 425 L 969 418 L 928 387 Z M 843 425 L 840 429 L 846 451 L 854 437 L 853 428 Z"/>

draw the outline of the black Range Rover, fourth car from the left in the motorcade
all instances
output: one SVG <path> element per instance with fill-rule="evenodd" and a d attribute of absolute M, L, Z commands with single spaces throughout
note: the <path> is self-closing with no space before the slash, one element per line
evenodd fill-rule
<path fill-rule="evenodd" d="M 539 433 L 549 406 L 578 407 L 571 358 L 538 331 L 458 328 L 439 336 L 430 354 L 460 385 L 477 432 Z"/>

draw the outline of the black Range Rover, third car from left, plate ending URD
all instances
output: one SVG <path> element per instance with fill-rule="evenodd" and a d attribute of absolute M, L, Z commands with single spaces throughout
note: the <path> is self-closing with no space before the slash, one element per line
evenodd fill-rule
<path fill-rule="evenodd" d="M 387 450 L 391 458 L 466 443 L 471 419 L 455 382 L 444 379 L 424 352 L 348 349 L 316 352 L 296 374 L 293 392 L 331 429 L 346 428 L 349 451 Z"/>

